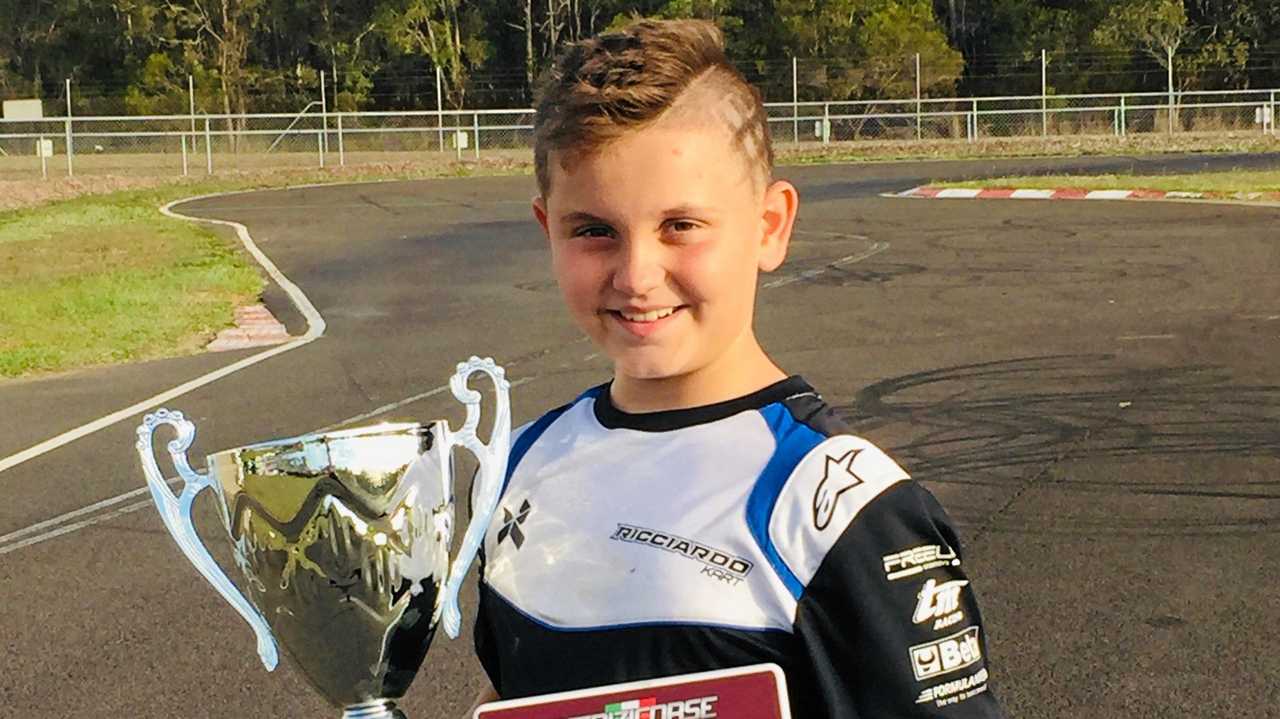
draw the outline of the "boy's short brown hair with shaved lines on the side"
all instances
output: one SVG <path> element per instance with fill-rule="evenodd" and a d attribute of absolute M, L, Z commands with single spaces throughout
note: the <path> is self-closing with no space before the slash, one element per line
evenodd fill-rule
<path fill-rule="evenodd" d="M 575 42 L 543 74 L 534 118 L 538 188 L 550 189 L 554 151 L 590 154 L 645 127 L 698 86 L 714 95 L 735 142 L 765 182 L 773 147 L 760 92 L 724 55 L 724 37 L 707 20 L 635 20 Z"/>

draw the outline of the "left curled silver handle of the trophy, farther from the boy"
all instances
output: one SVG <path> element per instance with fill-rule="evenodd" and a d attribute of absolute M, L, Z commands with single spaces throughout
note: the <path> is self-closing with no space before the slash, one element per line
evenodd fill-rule
<path fill-rule="evenodd" d="M 169 425 L 178 431 L 178 438 L 169 443 L 169 455 L 173 458 L 174 467 L 178 468 L 178 476 L 183 481 L 182 493 L 177 496 L 169 489 L 164 475 L 160 473 L 159 464 L 156 464 L 152 441 L 155 431 L 160 425 Z M 137 448 L 138 458 L 142 461 L 142 472 L 147 476 L 151 499 L 155 500 L 156 509 L 160 510 L 160 518 L 164 521 L 165 528 L 169 530 L 173 540 L 178 542 L 178 548 L 196 565 L 196 569 L 200 571 L 205 580 L 214 585 L 218 594 L 223 595 L 223 599 L 229 601 L 236 608 L 236 612 L 239 612 L 239 615 L 253 628 L 253 633 L 257 635 L 257 655 L 262 659 L 262 665 L 266 667 L 266 670 L 270 672 L 275 669 L 275 665 L 280 660 L 279 650 L 275 646 L 275 637 L 271 636 L 270 627 L 268 627 L 266 620 L 257 609 L 227 578 L 227 574 L 214 562 L 214 558 L 210 557 L 209 550 L 205 549 L 205 545 L 196 535 L 195 523 L 191 521 L 191 507 L 196 500 L 196 495 L 214 484 L 209 475 L 195 472 L 187 462 L 187 448 L 191 446 L 195 439 L 196 425 L 184 418 L 182 412 L 157 409 L 155 413 L 147 415 L 138 426 Z"/>

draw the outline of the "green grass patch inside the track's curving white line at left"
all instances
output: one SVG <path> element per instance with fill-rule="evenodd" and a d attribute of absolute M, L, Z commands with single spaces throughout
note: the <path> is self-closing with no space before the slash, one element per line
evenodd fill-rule
<path fill-rule="evenodd" d="M 0 214 L 0 377 L 172 357 L 264 280 L 237 244 L 122 192 Z"/>

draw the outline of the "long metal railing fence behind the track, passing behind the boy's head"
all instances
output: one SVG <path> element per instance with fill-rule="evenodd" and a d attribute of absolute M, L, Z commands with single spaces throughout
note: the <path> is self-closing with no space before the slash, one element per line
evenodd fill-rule
<path fill-rule="evenodd" d="M 769 102 L 778 145 L 1270 133 L 1280 90 Z M 310 109 L 310 106 L 308 106 Z M 0 179 L 214 174 L 527 156 L 532 109 L 61 116 L 0 120 Z"/>

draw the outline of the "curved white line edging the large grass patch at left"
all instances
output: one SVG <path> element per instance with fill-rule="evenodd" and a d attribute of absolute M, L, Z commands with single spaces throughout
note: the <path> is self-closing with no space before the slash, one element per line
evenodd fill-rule
<path fill-rule="evenodd" d="M 52 450 L 55 450 L 55 449 L 58 449 L 60 446 L 65 446 L 65 445 L 68 445 L 68 444 L 70 444 L 70 443 L 73 443 L 73 441 L 83 438 L 83 436 L 87 436 L 87 435 L 91 435 L 91 434 L 93 434 L 93 432 L 96 432 L 99 430 L 110 427 L 111 425 L 114 425 L 114 423 L 116 423 L 116 422 L 119 422 L 122 420 L 127 420 L 127 418 L 129 418 L 129 417 L 132 417 L 132 416 L 134 416 L 134 415 L 137 415 L 140 412 L 146 412 L 147 409 L 157 407 L 157 406 L 160 406 L 160 404 L 163 404 L 165 402 L 169 402 L 170 399 L 174 399 L 177 397 L 182 397 L 183 394 L 187 394 L 188 391 L 192 391 L 192 390 L 202 388 L 202 386 L 205 386 L 207 384 L 215 383 L 215 381 L 218 381 L 218 380 L 220 380 L 220 379 L 223 379 L 225 376 L 233 375 L 233 374 L 236 374 L 236 372 L 238 372 L 241 370 L 244 370 L 247 367 L 257 365 L 259 362 L 270 360 L 271 357 L 275 357 L 276 354 L 284 354 L 285 352 L 289 352 L 292 349 L 297 349 L 297 348 L 302 347 L 303 344 L 311 343 L 312 340 L 320 338 L 324 334 L 324 329 L 325 329 L 324 317 L 320 316 L 320 312 L 316 311 L 315 306 L 311 304 L 311 301 L 307 299 L 307 296 L 302 293 L 302 290 L 298 288 L 298 285 L 296 285 L 292 281 L 289 281 L 289 279 L 285 278 L 283 273 L 280 273 L 279 267 L 275 266 L 275 262 L 271 262 L 270 257 L 268 257 L 266 255 L 264 255 L 262 251 L 257 248 L 257 244 L 253 242 L 253 238 L 248 234 L 248 228 L 246 228 L 244 225 L 242 225 L 239 223 L 233 223 L 230 220 L 207 220 L 207 219 L 204 219 L 204 217 L 191 217 L 191 216 L 182 215 L 179 212 L 174 212 L 173 211 L 173 206 L 178 205 L 179 202 L 189 202 L 189 201 L 195 201 L 195 200 L 207 200 L 210 197 L 219 197 L 219 194 L 216 194 L 216 193 L 215 194 L 202 194 L 202 196 L 198 196 L 198 197 L 188 197 L 187 200 L 178 200 L 178 201 L 174 201 L 174 202 L 170 202 L 170 203 L 165 205 L 164 207 L 160 207 L 160 212 L 164 214 L 164 215 L 166 215 L 166 216 L 169 216 L 169 217 L 174 217 L 174 219 L 178 219 L 178 220 L 186 220 L 186 221 L 192 221 L 192 223 L 210 223 L 210 224 L 215 224 L 215 225 L 224 225 L 224 226 L 234 228 L 236 229 L 236 235 L 239 237 L 239 241 L 244 246 L 244 248 L 248 249 L 250 255 L 252 255 L 253 258 L 257 260 L 260 265 L 262 265 L 262 269 L 266 270 L 266 274 L 270 275 L 271 279 L 275 280 L 275 283 L 280 285 L 280 288 L 289 296 L 289 299 L 293 301 L 293 303 L 298 307 L 298 310 L 306 317 L 306 320 L 307 320 L 307 333 L 305 335 L 300 336 L 298 339 L 296 339 L 293 342 L 289 342 L 288 344 L 282 344 L 282 345 L 278 345 L 278 347 L 273 347 L 271 349 L 268 349 L 265 352 L 260 352 L 260 353 L 253 354 L 251 357 L 246 357 L 243 360 L 239 360 L 238 362 L 233 362 L 233 363 L 230 363 L 230 365 L 228 365 L 225 367 L 221 367 L 219 370 L 214 370 L 212 372 L 209 372 L 209 374 L 198 376 L 198 377 L 196 377 L 193 380 L 186 381 L 186 383 L 183 383 L 183 384 L 180 384 L 180 385 L 178 385 L 178 386 L 175 386 L 173 389 L 161 391 L 160 394 L 156 394 L 156 395 L 148 397 L 147 399 L 143 399 L 141 402 L 133 403 L 133 404 L 125 407 L 124 409 L 119 409 L 116 412 L 111 412 L 110 415 L 108 415 L 105 417 L 99 417 L 97 420 L 93 420 L 92 422 L 86 422 L 86 423 L 83 423 L 83 425 L 81 425 L 81 426 L 78 426 L 78 427 L 76 427 L 73 430 L 67 430 L 65 432 L 63 432 L 63 434 L 60 434 L 60 435 L 58 435 L 55 438 L 46 439 L 45 441 L 42 441 L 42 443 L 40 443 L 40 444 L 37 444 L 35 446 L 29 446 L 27 449 L 23 449 L 22 452 L 18 452 L 17 454 L 10 454 L 9 457 L 0 458 L 0 472 L 4 472 L 5 470 L 10 470 L 13 467 L 17 467 L 18 464 L 22 464 L 23 462 L 28 462 L 31 459 L 35 459 L 36 457 L 40 457 L 41 454 L 46 454 L 49 452 L 52 452 Z"/>

